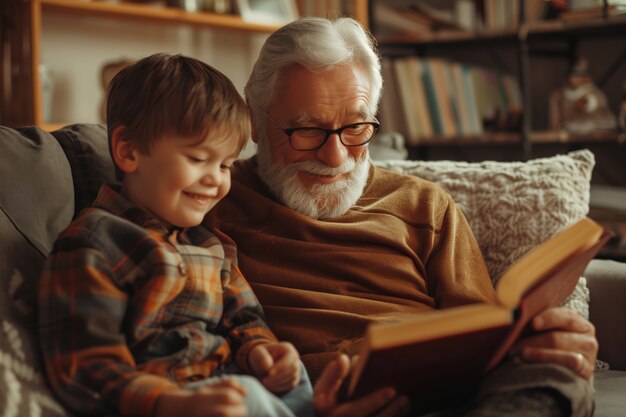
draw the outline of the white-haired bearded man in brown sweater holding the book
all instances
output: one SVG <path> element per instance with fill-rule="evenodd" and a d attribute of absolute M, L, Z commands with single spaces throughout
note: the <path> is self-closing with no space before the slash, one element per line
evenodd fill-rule
<path fill-rule="evenodd" d="M 306 18 L 276 31 L 245 88 L 258 153 L 235 164 L 231 193 L 205 221 L 237 242 L 270 326 L 319 377 L 318 410 L 330 416 L 370 415 L 393 395 L 337 404 L 348 364 L 335 358 L 356 352 L 369 323 L 494 297 L 450 196 L 370 164 L 381 92 L 378 55 L 356 21 Z M 591 413 L 593 326 L 565 309 L 533 324 L 462 413 Z"/>

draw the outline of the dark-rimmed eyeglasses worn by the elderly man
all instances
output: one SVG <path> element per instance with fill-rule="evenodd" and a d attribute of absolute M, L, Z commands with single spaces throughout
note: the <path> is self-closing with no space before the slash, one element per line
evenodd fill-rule
<path fill-rule="evenodd" d="M 284 127 L 272 116 L 261 110 L 268 119 L 280 127 L 289 138 L 289 145 L 297 151 L 314 151 L 324 146 L 330 135 L 337 134 L 344 146 L 363 146 L 374 139 L 380 123 L 359 122 L 352 123 L 339 129 L 324 129 L 321 127 Z"/>

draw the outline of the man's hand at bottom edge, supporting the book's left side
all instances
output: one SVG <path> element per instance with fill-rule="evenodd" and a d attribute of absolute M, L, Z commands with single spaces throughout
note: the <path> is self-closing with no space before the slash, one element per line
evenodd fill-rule
<path fill-rule="evenodd" d="M 317 380 L 314 389 L 316 414 L 320 417 L 399 417 L 409 411 L 406 397 L 397 397 L 392 388 L 384 388 L 355 401 L 339 404 L 337 394 L 350 373 L 346 355 L 329 363 Z"/>

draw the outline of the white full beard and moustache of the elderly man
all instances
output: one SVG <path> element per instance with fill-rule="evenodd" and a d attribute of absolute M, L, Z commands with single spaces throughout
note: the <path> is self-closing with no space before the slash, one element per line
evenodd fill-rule
<path fill-rule="evenodd" d="M 341 216 L 352 207 L 363 194 L 369 175 L 367 150 L 360 161 L 352 157 L 337 168 L 331 168 L 319 161 L 302 161 L 291 164 L 277 164 L 272 161 L 267 138 L 259 141 L 257 149 L 259 176 L 285 206 L 314 219 Z M 346 179 L 330 184 L 314 184 L 304 187 L 299 172 L 317 175 L 340 175 L 349 173 Z"/>

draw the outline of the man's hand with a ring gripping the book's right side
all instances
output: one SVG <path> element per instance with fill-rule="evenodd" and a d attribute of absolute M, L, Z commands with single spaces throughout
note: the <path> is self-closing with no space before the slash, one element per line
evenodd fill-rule
<path fill-rule="evenodd" d="M 589 380 L 598 355 L 595 327 L 566 307 L 544 310 L 532 321 L 537 333 L 522 339 L 514 347 L 529 362 L 563 365 Z"/>

